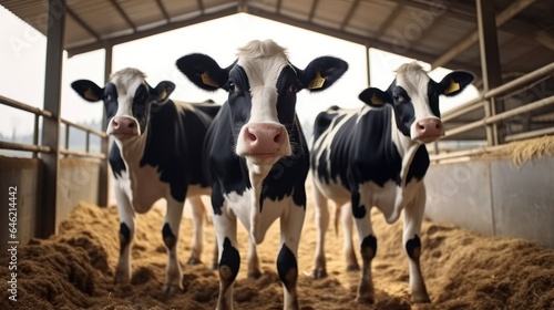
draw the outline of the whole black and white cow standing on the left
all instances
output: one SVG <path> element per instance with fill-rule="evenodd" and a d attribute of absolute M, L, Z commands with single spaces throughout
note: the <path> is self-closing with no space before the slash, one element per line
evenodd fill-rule
<path fill-rule="evenodd" d="M 135 213 L 146 213 L 157 199 L 165 198 L 164 291 L 177 292 L 183 289 L 177 244 L 185 198 L 192 206 L 194 226 L 188 264 L 201 261 L 205 209 L 199 195 L 209 195 L 201 151 L 218 106 L 173 102 L 168 96 L 175 84 L 163 81 L 151 87 L 144 73 L 136 69 L 112 74 L 105 87 L 88 80 L 75 81 L 71 86 L 89 102 L 104 102 L 106 134 L 114 141 L 109 159 L 121 221 L 115 283 L 127 282 L 131 277 Z"/>

